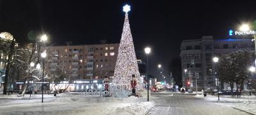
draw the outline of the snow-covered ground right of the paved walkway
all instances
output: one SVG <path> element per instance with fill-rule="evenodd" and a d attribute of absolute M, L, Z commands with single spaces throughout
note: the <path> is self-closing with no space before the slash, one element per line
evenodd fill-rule
<path fill-rule="evenodd" d="M 241 96 L 241 97 L 231 97 L 231 96 L 220 96 L 220 101 L 218 101 L 218 96 L 212 95 L 195 95 L 197 98 L 204 98 L 211 102 L 216 102 L 221 105 L 226 105 L 228 107 L 233 107 L 241 111 L 250 112 L 251 114 L 256 114 L 256 96 Z"/>

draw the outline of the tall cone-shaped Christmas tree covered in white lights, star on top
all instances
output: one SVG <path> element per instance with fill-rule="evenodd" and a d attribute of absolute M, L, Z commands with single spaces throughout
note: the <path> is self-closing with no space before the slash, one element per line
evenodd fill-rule
<path fill-rule="evenodd" d="M 118 89 L 131 89 L 132 74 L 134 74 L 137 80 L 136 89 L 141 89 L 142 82 L 140 80 L 141 77 L 138 69 L 138 63 L 134 51 L 132 34 L 128 19 L 128 11 L 130 11 L 130 6 L 125 5 L 124 11 L 124 28 L 118 49 L 113 85 L 117 86 Z"/>

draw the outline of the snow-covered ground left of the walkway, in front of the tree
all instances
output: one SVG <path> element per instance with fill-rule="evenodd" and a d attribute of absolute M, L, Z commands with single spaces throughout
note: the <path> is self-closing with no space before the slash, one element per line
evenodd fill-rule
<path fill-rule="evenodd" d="M 99 95 L 81 95 L 81 93 L 62 93 L 44 95 L 0 95 L 0 114 L 145 114 L 154 102 L 147 98 L 100 97 Z M 121 99 L 121 100 L 120 100 Z"/>

